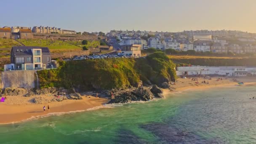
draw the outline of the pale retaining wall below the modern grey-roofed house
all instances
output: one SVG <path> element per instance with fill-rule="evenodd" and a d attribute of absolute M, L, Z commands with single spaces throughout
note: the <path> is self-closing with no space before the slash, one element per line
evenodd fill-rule
<path fill-rule="evenodd" d="M 1 72 L 2 88 L 35 88 L 35 72 L 33 70 Z"/>

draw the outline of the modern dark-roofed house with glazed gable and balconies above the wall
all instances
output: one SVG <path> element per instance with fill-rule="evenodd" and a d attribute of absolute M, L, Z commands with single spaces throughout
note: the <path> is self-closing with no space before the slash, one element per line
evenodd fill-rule
<path fill-rule="evenodd" d="M 51 66 L 49 48 L 36 46 L 16 46 L 11 49 L 11 64 L 5 65 L 5 70 L 47 69 Z"/>

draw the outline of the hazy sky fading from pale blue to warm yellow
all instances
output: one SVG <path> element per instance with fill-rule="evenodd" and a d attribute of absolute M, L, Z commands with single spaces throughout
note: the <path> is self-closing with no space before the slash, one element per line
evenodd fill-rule
<path fill-rule="evenodd" d="M 0 27 L 256 33 L 256 0 L 3 0 Z"/>

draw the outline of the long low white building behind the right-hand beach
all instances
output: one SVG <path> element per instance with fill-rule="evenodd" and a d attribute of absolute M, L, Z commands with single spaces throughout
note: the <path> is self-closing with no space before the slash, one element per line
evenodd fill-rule
<path fill-rule="evenodd" d="M 221 76 L 256 76 L 256 67 L 176 67 L 178 76 L 221 75 Z"/>

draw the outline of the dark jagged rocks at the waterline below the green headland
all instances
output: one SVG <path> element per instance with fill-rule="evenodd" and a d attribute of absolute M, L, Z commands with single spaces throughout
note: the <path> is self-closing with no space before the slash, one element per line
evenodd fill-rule
<path fill-rule="evenodd" d="M 109 104 L 148 101 L 151 99 L 153 99 L 153 94 L 149 89 L 129 89 L 115 93 L 115 98 L 111 99 Z"/>

